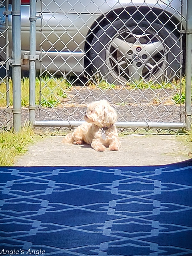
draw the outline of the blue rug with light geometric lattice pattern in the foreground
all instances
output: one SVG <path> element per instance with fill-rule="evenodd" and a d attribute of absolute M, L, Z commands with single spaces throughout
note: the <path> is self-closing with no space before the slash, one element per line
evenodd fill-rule
<path fill-rule="evenodd" d="M 0 172 L 0 255 L 192 255 L 192 160 Z"/>

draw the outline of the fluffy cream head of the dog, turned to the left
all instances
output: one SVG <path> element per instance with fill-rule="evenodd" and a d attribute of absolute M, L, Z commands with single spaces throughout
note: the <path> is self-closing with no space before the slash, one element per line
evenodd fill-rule
<path fill-rule="evenodd" d="M 114 124 L 117 121 L 117 114 L 106 100 L 99 100 L 88 105 L 84 118 L 88 123 L 104 126 Z"/>

